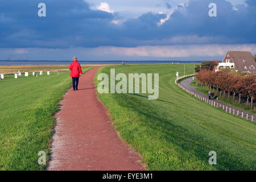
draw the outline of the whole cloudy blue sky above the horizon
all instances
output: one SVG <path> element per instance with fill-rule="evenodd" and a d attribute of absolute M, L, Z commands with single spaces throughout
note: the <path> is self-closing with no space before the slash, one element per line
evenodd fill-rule
<path fill-rule="evenodd" d="M 46 16 L 39 17 L 39 3 Z M 210 3 L 217 16 L 210 17 Z M 0 60 L 212 60 L 256 53 L 255 0 L 1 0 Z"/>

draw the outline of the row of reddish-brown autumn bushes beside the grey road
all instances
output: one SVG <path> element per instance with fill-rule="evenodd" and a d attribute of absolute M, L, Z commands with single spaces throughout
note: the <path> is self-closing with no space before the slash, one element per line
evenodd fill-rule
<path fill-rule="evenodd" d="M 251 109 L 253 109 L 253 101 L 256 97 L 256 74 L 239 75 L 228 71 L 208 71 L 203 69 L 196 73 L 197 80 L 201 84 L 203 90 L 209 88 L 216 89 L 217 96 L 228 97 L 233 95 L 233 102 L 238 96 L 240 104 L 241 97 L 246 98 L 246 105 L 248 105 L 249 98 L 251 100 Z M 228 96 L 225 94 L 228 93 Z"/>

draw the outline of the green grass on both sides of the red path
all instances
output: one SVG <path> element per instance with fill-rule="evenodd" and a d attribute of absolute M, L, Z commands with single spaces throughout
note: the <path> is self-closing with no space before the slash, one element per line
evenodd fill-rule
<path fill-rule="evenodd" d="M 120 137 L 141 154 L 148 170 L 255 170 L 255 123 L 178 88 L 174 80 L 183 64 L 115 65 L 97 74 L 109 74 L 110 68 L 116 74 L 159 73 L 158 100 L 147 94 L 98 94 Z M 186 73 L 193 73 L 193 64 L 186 64 Z M 46 169 L 38 164 L 38 152 L 46 151 L 49 159 L 53 115 L 70 86 L 69 72 L 6 75 L 0 81 L 0 170 Z M 209 151 L 217 152 L 216 166 L 208 164 Z"/>

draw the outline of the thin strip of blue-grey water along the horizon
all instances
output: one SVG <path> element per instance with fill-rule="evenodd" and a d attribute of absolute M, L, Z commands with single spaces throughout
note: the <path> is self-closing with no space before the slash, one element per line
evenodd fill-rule
<path fill-rule="evenodd" d="M 201 63 L 201 61 L 125 61 L 125 64 L 164 64 L 164 63 Z M 69 65 L 72 61 L 7 61 L 0 60 L 0 65 Z M 79 61 L 80 64 L 122 64 L 122 61 Z"/>

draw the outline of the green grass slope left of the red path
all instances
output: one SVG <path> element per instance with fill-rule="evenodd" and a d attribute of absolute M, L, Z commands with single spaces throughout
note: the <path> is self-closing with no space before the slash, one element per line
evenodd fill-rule
<path fill-rule="evenodd" d="M 88 71 L 86 68 L 83 71 Z M 54 114 L 71 87 L 69 72 L 0 81 L 0 170 L 43 170 L 38 152 L 49 159 Z"/>

